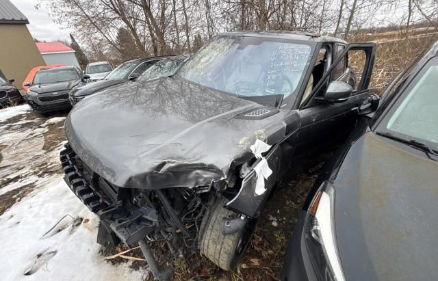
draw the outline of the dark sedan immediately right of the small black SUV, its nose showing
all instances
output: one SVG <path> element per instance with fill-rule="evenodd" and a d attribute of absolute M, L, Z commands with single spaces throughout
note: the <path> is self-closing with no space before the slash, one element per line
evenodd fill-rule
<path fill-rule="evenodd" d="M 142 75 L 144 70 L 150 68 L 162 59 L 180 59 L 181 56 L 162 56 L 162 57 L 149 57 L 147 59 L 132 59 L 120 66 L 117 66 L 112 72 L 110 72 L 103 80 L 89 83 L 87 85 L 81 85 L 74 88 L 70 92 L 70 103 L 75 105 L 78 101 L 90 94 L 94 94 L 106 88 L 125 83 L 127 81 L 136 80 Z"/>

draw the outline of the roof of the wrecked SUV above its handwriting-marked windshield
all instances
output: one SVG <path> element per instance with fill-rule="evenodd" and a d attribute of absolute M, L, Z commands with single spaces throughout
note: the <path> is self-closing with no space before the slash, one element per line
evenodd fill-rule
<path fill-rule="evenodd" d="M 322 36 L 310 32 L 291 31 L 291 30 L 235 31 L 235 32 L 227 32 L 219 35 L 285 38 L 290 40 L 304 40 L 304 41 L 314 41 L 314 42 L 339 42 L 342 44 L 347 44 L 346 41 L 339 38 L 335 38 L 331 36 Z"/>

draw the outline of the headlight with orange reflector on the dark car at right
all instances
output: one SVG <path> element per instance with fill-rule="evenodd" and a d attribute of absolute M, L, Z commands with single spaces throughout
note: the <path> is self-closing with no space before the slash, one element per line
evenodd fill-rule
<path fill-rule="evenodd" d="M 305 241 L 319 280 L 344 281 L 334 225 L 335 189 L 324 182 L 307 212 Z"/>

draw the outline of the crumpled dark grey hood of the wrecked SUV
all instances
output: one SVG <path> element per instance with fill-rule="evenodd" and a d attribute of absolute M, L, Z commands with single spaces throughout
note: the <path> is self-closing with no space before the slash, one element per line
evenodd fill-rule
<path fill-rule="evenodd" d="M 263 120 L 237 119 L 260 107 L 178 78 L 121 84 L 86 98 L 65 130 L 92 170 L 120 187 L 209 185 L 226 179 L 230 164 L 253 157 L 256 135 L 268 143 L 285 135 L 280 111 Z"/>

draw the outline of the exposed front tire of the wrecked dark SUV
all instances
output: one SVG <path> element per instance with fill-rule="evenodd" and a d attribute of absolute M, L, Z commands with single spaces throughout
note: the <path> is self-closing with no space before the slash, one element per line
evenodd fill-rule
<path fill-rule="evenodd" d="M 244 228 L 231 234 L 222 235 L 222 219 L 234 214 L 223 206 L 228 202 L 220 198 L 216 206 L 204 215 L 199 236 L 199 249 L 221 269 L 229 271 L 243 256 L 255 228 L 255 220 L 249 221 Z"/>

